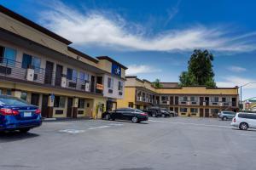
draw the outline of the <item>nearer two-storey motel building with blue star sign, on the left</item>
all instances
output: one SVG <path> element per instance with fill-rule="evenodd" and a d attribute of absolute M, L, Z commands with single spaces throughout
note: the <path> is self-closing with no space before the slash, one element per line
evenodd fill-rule
<path fill-rule="evenodd" d="M 127 68 L 71 43 L 0 5 L 0 94 L 38 105 L 48 118 L 99 118 L 115 109 Z"/>

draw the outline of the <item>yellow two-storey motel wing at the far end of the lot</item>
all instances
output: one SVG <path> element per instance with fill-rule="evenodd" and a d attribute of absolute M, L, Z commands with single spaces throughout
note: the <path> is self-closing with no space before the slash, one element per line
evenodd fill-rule
<path fill-rule="evenodd" d="M 219 111 L 238 111 L 238 88 L 178 87 L 177 82 L 152 82 L 137 77 L 126 77 L 124 99 L 118 99 L 118 108 L 146 109 L 160 106 L 176 111 L 178 116 L 215 117 Z"/>

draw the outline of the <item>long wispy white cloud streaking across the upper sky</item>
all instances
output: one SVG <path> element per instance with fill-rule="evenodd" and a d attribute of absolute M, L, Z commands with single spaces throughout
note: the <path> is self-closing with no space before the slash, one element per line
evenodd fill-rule
<path fill-rule="evenodd" d="M 207 48 L 243 52 L 256 49 L 256 44 L 252 41 L 256 32 L 232 36 L 234 32 L 225 31 L 223 27 L 191 26 L 148 36 L 146 28 L 127 22 L 118 14 L 92 10 L 79 12 L 60 2 L 49 4 L 49 7 L 48 11 L 41 14 L 41 23 L 79 45 L 145 51 Z M 172 14 L 170 17 L 172 18 Z"/>

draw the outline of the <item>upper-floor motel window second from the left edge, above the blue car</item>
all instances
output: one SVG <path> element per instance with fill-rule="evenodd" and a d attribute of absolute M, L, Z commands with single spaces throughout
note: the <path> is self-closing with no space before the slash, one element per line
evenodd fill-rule
<path fill-rule="evenodd" d="M 38 57 L 34 57 L 32 55 L 29 55 L 29 54 L 23 54 L 21 67 L 23 69 L 32 67 L 35 70 L 35 72 L 40 72 L 41 59 L 39 59 Z"/>

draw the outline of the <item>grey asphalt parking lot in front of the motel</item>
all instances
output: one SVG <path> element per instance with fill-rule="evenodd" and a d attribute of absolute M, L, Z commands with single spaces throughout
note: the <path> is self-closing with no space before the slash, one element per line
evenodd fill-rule
<path fill-rule="evenodd" d="M 44 122 L 0 136 L 0 169 L 256 169 L 256 131 L 212 118 Z"/>

